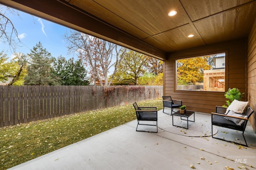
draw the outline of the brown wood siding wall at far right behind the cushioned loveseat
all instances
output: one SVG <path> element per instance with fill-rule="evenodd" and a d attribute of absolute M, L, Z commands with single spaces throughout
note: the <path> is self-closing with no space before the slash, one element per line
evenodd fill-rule
<path fill-rule="evenodd" d="M 256 112 L 256 18 L 250 35 L 248 37 L 248 101 L 250 106 Z M 254 132 L 256 132 L 256 115 L 252 115 L 249 119 Z"/>

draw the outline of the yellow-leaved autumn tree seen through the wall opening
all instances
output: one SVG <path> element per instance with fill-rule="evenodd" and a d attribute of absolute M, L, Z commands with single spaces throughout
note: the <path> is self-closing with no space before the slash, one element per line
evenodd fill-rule
<path fill-rule="evenodd" d="M 178 60 L 177 82 L 178 85 L 195 84 L 204 80 L 204 70 L 211 66 L 207 63 L 208 57 L 196 57 Z"/>

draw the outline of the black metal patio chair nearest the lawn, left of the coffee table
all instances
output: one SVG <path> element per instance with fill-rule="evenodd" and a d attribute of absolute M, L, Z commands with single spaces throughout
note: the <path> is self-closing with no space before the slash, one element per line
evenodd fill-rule
<path fill-rule="evenodd" d="M 156 131 L 144 131 L 144 130 L 138 130 L 138 125 L 136 127 L 136 131 L 143 131 L 143 132 L 158 132 L 158 127 L 157 127 L 157 109 L 156 107 L 138 107 L 137 103 L 135 102 L 133 104 L 135 111 L 136 111 L 136 116 L 138 120 L 138 125 L 148 125 L 148 126 L 155 126 Z M 148 124 L 148 123 L 141 123 L 141 121 L 153 121 L 153 124 Z M 154 122 L 156 122 L 154 124 Z"/>

